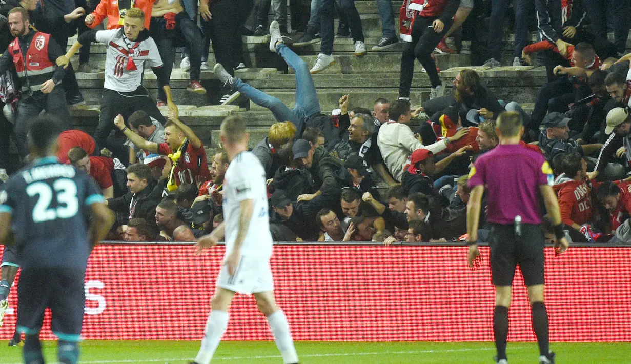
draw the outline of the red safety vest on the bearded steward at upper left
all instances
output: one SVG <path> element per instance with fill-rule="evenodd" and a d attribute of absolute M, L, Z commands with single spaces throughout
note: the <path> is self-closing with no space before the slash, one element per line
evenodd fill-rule
<path fill-rule="evenodd" d="M 55 64 L 48 57 L 50 34 L 37 32 L 24 57 L 20 49 L 20 41 L 15 38 L 9 44 L 9 54 L 13 56 L 15 70 L 22 85 L 22 92 L 40 91 L 42 83 L 52 78 Z"/>

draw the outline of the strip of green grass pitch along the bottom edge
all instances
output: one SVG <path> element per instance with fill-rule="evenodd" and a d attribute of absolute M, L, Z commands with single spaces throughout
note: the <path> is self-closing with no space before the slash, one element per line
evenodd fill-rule
<path fill-rule="evenodd" d="M 21 363 L 22 348 L 0 349 L 0 363 Z M 629 343 L 552 343 L 557 363 L 630 363 Z M 198 341 L 85 341 L 81 345 L 84 364 L 185 364 L 197 353 Z M 335 343 L 302 341 L 296 343 L 300 363 L 468 363 L 491 364 L 493 343 Z M 45 343 L 47 363 L 56 362 L 56 345 Z M 509 343 L 510 364 L 538 363 L 535 343 Z M 268 341 L 225 341 L 213 363 L 282 363 L 276 346 Z"/>

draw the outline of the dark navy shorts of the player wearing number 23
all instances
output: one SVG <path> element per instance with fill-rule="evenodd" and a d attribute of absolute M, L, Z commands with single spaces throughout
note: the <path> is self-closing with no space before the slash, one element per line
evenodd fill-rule
<path fill-rule="evenodd" d="M 50 331 L 61 341 L 81 339 L 85 307 L 85 271 L 64 268 L 22 269 L 18 285 L 17 330 L 35 335 L 50 307 Z"/>

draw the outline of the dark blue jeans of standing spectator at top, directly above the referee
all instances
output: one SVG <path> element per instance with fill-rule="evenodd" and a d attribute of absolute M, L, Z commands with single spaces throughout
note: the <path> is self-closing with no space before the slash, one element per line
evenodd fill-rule
<path fill-rule="evenodd" d="M 510 0 L 492 0 L 491 19 L 488 26 L 488 50 L 496 61 L 502 59 L 502 37 L 504 18 Z M 521 52 L 528 44 L 528 18 L 534 11 L 533 0 L 515 0 L 515 52 L 513 57 L 521 58 Z"/>

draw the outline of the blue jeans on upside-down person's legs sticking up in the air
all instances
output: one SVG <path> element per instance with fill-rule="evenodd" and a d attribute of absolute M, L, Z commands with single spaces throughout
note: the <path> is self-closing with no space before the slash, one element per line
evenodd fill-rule
<path fill-rule="evenodd" d="M 314 81 L 309 73 L 307 63 L 298 57 L 293 50 L 285 44 L 280 44 L 276 46 L 276 52 L 285 59 L 287 65 L 293 68 L 296 74 L 296 106 L 293 109 L 289 109 L 278 98 L 257 90 L 239 78 L 235 78 L 234 88 L 256 105 L 269 109 L 279 122 L 293 122 L 300 132 L 305 125 L 305 120 L 320 112 L 320 102 L 317 98 L 317 92 L 315 92 Z"/>

